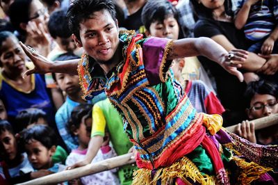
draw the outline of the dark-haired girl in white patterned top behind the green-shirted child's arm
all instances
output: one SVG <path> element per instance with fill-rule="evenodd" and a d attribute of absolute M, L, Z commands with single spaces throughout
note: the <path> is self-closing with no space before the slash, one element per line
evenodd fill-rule
<path fill-rule="evenodd" d="M 67 166 L 71 166 L 85 157 L 90 141 L 92 124 L 92 105 L 81 104 L 76 106 L 72 111 L 71 119 L 67 127 L 71 131 L 71 134 L 78 137 L 79 147 L 76 150 L 72 150 L 72 153 L 67 157 Z M 113 148 L 109 146 L 108 138 L 109 137 L 106 137 L 104 140 L 104 143 L 99 152 L 97 152 L 95 158 L 92 160 L 92 163 L 116 156 Z M 119 184 L 119 180 L 113 172 L 115 172 L 115 169 L 81 177 L 81 182 L 83 184 Z"/>

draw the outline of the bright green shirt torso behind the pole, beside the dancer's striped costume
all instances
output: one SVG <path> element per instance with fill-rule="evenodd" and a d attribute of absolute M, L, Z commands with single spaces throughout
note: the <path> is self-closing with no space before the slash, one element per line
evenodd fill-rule
<path fill-rule="evenodd" d="M 109 131 L 111 143 L 117 155 L 126 154 L 133 144 L 129 141 L 126 133 L 124 133 L 124 127 L 122 123 L 122 117 L 117 113 L 116 109 L 112 106 L 109 99 L 97 102 L 104 113 L 106 119 L 106 128 Z M 133 170 L 137 169 L 136 166 L 122 166 L 118 170 L 118 177 L 121 184 L 131 184 L 133 177 Z"/>

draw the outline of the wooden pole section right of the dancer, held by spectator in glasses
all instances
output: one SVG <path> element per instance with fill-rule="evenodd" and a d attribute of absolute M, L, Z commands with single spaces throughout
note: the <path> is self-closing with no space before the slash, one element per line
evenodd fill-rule
<path fill-rule="evenodd" d="M 265 127 L 270 127 L 274 124 L 278 124 L 278 113 L 263 118 L 259 118 L 256 120 L 252 120 L 250 122 L 254 122 L 255 130 L 263 129 Z M 235 133 L 236 126 L 238 126 L 238 124 L 232 125 L 230 127 L 226 127 L 226 129 L 227 131 Z"/>

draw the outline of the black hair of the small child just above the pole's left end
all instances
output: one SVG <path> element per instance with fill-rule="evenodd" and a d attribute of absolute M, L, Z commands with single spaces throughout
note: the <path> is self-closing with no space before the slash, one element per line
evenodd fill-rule
<path fill-rule="evenodd" d="M 30 143 L 32 140 L 38 140 L 44 147 L 50 149 L 57 145 L 57 136 L 51 127 L 44 124 L 37 124 L 30 129 L 26 129 L 23 134 L 24 144 Z"/>

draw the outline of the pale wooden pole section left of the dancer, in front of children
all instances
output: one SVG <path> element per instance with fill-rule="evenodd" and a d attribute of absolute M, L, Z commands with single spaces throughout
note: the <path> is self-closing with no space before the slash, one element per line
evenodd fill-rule
<path fill-rule="evenodd" d="M 99 161 L 97 163 L 88 164 L 86 166 L 81 166 L 79 168 L 74 168 L 72 170 L 65 170 L 63 172 L 57 172 L 45 177 L 40 177 L 38 179 L 33 179 L 28 182 L 22 183 L 22 185 L 40 185 L 40 184 L 57 184 L 60 182 L 66 182 L 71 179 L 76 179 L 79 177 L 84 177 L 86 175 L 95 174 L 97 172 L 102 172 L 105 170 L 111 170 L 126 164 L 135 163 L 132 153 L 124 154 L 121 156 L 115 156 L 104 161 Z"/>

